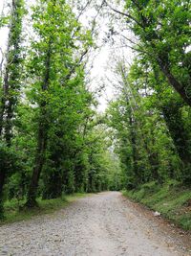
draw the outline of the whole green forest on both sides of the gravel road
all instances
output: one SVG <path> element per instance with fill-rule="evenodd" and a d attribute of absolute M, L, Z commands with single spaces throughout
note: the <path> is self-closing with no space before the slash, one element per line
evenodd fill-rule
<path fill-rule="evenodd" d="M 0 14 L 0 33 L 9 31 L 0 49 L 0 218 L 12 199 L 31 209 L 37 198 L 144 184 L 190 191 L 190 1 L 8 2 Z M 103 44 L 120 40 L 123 55 L 94 90 L 99 19 Z M 108 84 L 115 95 L 100 112 Z"/>

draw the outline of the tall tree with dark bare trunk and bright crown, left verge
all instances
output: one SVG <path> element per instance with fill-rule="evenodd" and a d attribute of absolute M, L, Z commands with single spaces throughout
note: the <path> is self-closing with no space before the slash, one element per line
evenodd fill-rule
<path fill-rule="evenodd" d="M 66 92 L 65 87 L 74 86 L 74 80 L 77 82 L 79 77 L 75 79 L 75 75 L 80 72 L 78 64 L 87 52 L 91 37 L 89 32 L 82 35 L 80 24 L 64 0 L 40 1 L 40 5 L 34 8 L 33 19 L 34 32 L 39 40 L 32 43 L 31 65 L 35 76 L 33 80 L 38 78 L 41 81 L 34 83 L 39 113 L 36 156 L 27 201 L 30 207 L 36 204 L 38 180 L 45 163 L 49 131 L 52 122 L 56 125 L 58 119 L 58 116 L 53 117 L 53 111 L 64 109 L 62 95 Z M 83 53 L 80 57 L 79 54 L 74 56 L 82 42 Z"/>

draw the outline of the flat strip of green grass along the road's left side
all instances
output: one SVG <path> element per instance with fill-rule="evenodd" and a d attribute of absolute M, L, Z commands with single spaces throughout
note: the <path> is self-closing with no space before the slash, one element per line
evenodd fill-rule
<path fill-rule="evenodd" d="M 25 209 L 23 207 L 25 204 L 24 200 L 18 201 L 17 199 L 11 199 L 10 201 L 5 202 L 5 219 L 0 221 L 0 225 L 15 221 L 29 220 L 33 216 L 53 213 L 56 210 L 66 207 L 77 198 L 87 197 L 88 195 L 90 194 L 76 193 L 74 195 L 64 196 L 63 198 L 47 200 L 38 198 L 38 207 L 34 209 Z"/>

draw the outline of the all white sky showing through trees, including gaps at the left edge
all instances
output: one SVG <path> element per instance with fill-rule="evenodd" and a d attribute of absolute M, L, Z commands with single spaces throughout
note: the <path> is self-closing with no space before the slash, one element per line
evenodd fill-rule
<path fill-rule="evenodd" d="M 3 6 L 7 3 L 7 0 L 0 0 L 0 13 L 3 10 Z M 29 1 L 33 3 L 34 1 Z M 112 11 L 111 11 L 112 12 Z M 96 14 L 96 11 L 93 9 L 88 9 L 80 17 L 80 22 L 87 26 L 89 20 L 91 20 Z M 90 65 L 91 71 L 89 74 L 89 81 L 91 81 L 90 89 L 96 92 L 96 95 L 99 97 L 97 110 L 99 112 L 104 112 L 107 108 L 108 102 L 110 102 L 116 93 L 116 90 L 110 81 L 114 80 L 114 73 L 112 68 L 117 64 L 117 58 L 125 58 L 128 62 L 131 62 L 134 58 L 134 53 L 128 47 L 122 48 L 119 36 L 115 38 L 114 44 L 111 46 L 110 43 L 103 43 L 103 40 L 106 38 L 107 33 L 109 32 L 109 17 L 98 16 L 96 18 L 97 25 L 99 26 L 98 35 L 96 38 L 96 44 L 98 50 L 94 51 L 90 56 Z M 6 43 L 8 38 L 8 29 L 0 29 L 0 47 L 3 51 L 6 51 Z M 130 35 L 132 36 L 132 35 Z M 2 54 L 0 53 L 0 61 Z M 112 67 L 112 68 L 111 68 Z M 108 80 L 109 78 L 109 80 Z M 99 90 L 100 87 L 104 89 Z"/>

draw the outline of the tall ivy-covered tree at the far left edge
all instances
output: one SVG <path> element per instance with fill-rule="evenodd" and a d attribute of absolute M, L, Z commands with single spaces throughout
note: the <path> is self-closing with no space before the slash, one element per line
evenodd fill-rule
<path fill-rule="evenodd" d="M 13 128 L 12 120 L 21 89 L 21 34 L 24 13 L 24 1 L 12 0 L 8 49 L 6 53 L 6 64 L 0 93 L 0 137 L 1 140 L 5 138 L 5 147 L 11 147 Z M 3 155 L 3 152 L 1 153 Z M 10 161 L 3 162 L 4 165 L 0 166 L 0 204 L 2 204 L 2 193 L 5 178 L 8 170 L 10 169 L 8 166 L 10 165 Z"/>

